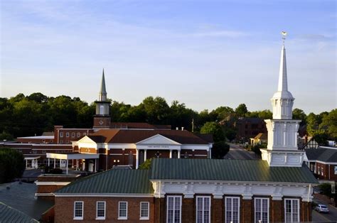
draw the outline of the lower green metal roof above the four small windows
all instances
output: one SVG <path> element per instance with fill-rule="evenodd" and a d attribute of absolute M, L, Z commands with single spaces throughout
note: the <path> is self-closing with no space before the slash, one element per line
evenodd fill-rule
<path fill-rule="evenodd" d="M 153 189 L 149 181 L 149 170 L 112 169 L 76 180 L 55 192 L 58 193 L 151 194 Z"/>

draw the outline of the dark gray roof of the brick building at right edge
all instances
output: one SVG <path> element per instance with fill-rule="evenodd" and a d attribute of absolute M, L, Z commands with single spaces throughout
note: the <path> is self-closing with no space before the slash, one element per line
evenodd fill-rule
<path fill-rule="evenodd" d="M 309 161 L 323 161 L 337 163 L 336 148 L 309 148 L 306 149 L 306 157 Z"/>

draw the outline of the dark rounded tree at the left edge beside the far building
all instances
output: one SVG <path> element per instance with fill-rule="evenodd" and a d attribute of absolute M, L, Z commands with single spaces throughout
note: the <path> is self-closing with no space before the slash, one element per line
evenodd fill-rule
<path fill-rule="evenodd" d="M 22 153 L 12 148 L 0 148 L 0 163 L 0 183 L 9 183 L 14 178 L 21 178 L 25 170 Z"/>

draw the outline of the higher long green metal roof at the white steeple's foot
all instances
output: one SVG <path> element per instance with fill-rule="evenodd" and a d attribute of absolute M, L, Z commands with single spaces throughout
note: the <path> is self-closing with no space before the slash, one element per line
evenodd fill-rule
<path fill-rule="evenodd" d="M 156 158 L 151 163 L 150 179 L 318 183 L 306 165 L 269 167 L 261 160 Z"/>

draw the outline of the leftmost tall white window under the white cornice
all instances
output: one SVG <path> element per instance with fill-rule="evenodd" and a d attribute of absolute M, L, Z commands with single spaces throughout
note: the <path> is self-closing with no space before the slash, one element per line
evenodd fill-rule
<path fill-rule="evenodd" d="M 167 196 L 166 222 L 181 222 L 181 196 Z"/>

